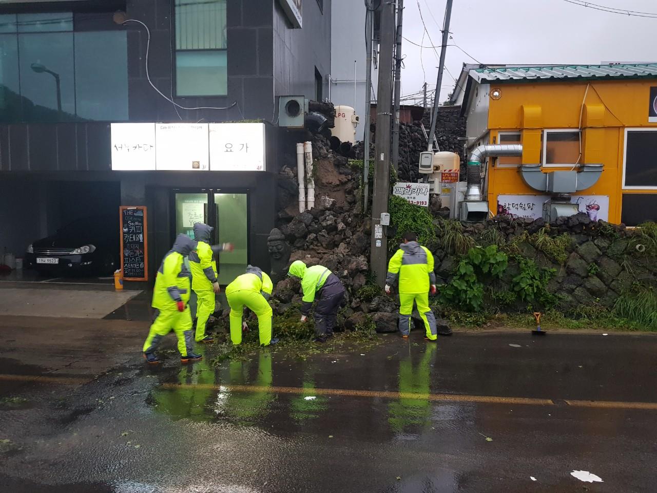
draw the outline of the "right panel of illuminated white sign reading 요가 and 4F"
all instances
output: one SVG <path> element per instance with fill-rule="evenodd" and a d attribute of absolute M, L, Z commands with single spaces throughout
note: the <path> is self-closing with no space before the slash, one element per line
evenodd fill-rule
<path fill-rule="evenodd" d="M 210 170 L 264 171 L 264 124 L 210 124 Z"/>

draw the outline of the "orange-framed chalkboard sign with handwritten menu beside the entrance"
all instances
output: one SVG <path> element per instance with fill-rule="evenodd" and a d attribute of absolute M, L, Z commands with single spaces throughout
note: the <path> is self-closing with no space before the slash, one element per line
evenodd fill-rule
<path fill-rule="evenodd" d="M 148 281 L 148 222 L 145 206 L 120 206 L 121 271 L 126 281 Z"/>

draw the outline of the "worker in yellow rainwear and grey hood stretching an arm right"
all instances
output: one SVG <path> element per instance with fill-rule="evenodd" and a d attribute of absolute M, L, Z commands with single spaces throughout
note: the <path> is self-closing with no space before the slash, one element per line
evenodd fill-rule
<path fill-rule="evenodd" d="M 210 247 L 212 226 L 204 223 L 194 223 L 194 239 L 198 246 L 189 254 L 189 268 L 192 271 L 192 289 L 196 293 L 196 342 L 212 342 L 211 336 L 206 336 L 208 318 L 215 311 L 215 294 L 219 293 L 217 279 L 217 262 L 214 254 L 226 250 L 233 251 L 233 245 L 223 243 Z"/>

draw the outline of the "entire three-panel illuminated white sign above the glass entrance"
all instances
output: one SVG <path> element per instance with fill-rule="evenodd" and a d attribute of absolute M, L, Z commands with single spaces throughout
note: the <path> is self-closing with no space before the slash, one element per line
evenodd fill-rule
<path fill-rule="evenodd" d="M 261 123 L 116 123 L 111 128 L 112 170 L 265 170 Z"/>

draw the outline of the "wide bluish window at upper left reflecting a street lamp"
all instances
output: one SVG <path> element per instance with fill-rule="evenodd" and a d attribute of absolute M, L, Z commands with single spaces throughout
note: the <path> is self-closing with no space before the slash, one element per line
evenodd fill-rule
<path fill-rule="evenodd" d="M 126 33 L 96 16 L 107 30 L 76 32 L 72 12 L 0 15 L 0 122 L 127 120 Z"/>

